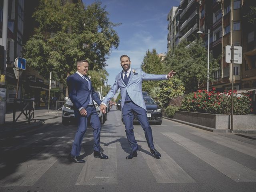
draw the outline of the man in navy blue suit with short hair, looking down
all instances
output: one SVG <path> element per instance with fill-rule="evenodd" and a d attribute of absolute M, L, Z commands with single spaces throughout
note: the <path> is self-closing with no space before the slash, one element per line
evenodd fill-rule
<path fill-rule="evenodd" d="M 77 61 L 76 65 L 76 73 L 67 78 L 68 96 L 74 104 L 74 113 L 78 122 L 78 128 L 68 159 L 75 163 L 85 162 L 78 158 L 78 156 L 81 151 L 82 140 L 89 121 L 93 128 L 94 157 L 108 159 L 108 156 L 100 152 L 101 125 L 93 100 L 98 105 L 101 104 L 101 100 L 98 97 L 98 94 L 94 92 L 92 82 L 87 77 L 89 67 L 88 60 Z"/>

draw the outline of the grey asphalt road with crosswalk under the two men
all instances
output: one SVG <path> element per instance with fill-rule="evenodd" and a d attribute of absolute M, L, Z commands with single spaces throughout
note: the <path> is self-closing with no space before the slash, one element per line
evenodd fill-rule
<path fill-rule="evenodd" d="M 108 160 L 93 157 L 92 128 L 86 131 L 84 164 L 66 156 L 76 132 L 60 114 L 40 113 L 38 128 L 0 136 L 0 192 L 256 192 L 256 135 L 214 134 L 164 119 L 152 125 L 155 159 L 144 132 L 134 126 L 138 157 L 130 148 L 113 107 L 102 126 L 101 147 Z"/>

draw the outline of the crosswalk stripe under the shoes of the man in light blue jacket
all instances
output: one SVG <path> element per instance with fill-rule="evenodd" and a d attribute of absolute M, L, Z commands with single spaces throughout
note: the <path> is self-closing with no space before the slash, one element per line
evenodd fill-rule
<path fill-rule="evenodd" d="M 144 136 L 135 133 L 137 140 L 146 141 Z M 146 142 L 138 142 L 143 149 L 149 150 Z M 162 157 L 156 159 L 153 156 L 141 152 L 143 158 L 146 160 L 148 167 L 150 168 L 156 182 L 158 183 L 194 183 L 195 181 L 189 176 L 164 150 L 162 150 L 157 144 L 154 144 L 155 148 L 160 152 Z"/>

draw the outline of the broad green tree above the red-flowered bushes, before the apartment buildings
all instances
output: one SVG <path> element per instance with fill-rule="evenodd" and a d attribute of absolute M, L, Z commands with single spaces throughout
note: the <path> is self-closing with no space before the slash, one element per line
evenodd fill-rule
<path fill-rule="evenodd" d="M 202 38 L 190 43 L 180 42 L 178 46 L 168 52 L 164 60 L 167 71 L 174 70 L 176 77 L 182 80 L 186 91 L 198 89 L 200 84 L 207 80 L 207 49 L 204 47 Z M 210 55 L 210 72 L 218 70 L 219 64 Z M 210 75 L 211 77 L 211 75 Z"/>

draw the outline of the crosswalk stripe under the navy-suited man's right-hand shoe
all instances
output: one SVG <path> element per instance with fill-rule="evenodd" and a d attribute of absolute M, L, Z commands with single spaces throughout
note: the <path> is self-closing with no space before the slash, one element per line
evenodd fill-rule
<path fill-rule="evenodd" d="M 94 158 L 93 153 L 88 156 L 76 185 L 99 185 L 99 184 L 118 184 L 117 183 L 117 157 L 116 140 L 113 136 L 102 133 L 100 137 L 104 154 L 107 160 Z"/>

